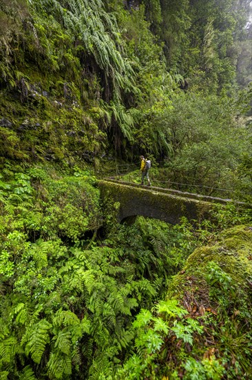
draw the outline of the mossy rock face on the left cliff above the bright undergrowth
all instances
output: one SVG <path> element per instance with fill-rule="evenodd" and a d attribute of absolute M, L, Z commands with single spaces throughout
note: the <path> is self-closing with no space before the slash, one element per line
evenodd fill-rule
<path fill-rule="evenodd" d="M 40 95 L 40 94 L 39 94 Z M 10 93 L 0 91 L 0 164 L 6 158 L 28 162 L 70 163 L 101 149 L 105 133 L 98 120 L 81 104 L 68 104 L 60 97 L 36 97 L 21 104 Z"/>

